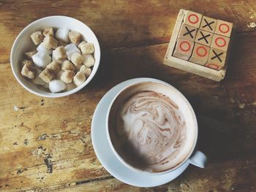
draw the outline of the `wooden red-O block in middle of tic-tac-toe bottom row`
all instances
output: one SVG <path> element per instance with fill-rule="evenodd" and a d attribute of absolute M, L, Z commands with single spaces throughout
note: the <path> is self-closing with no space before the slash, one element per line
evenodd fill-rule
<path fill-rule="evenodd" d="M 195 47 L 191 58 L 189 58 L 189 61 L 195 64 L 205 65 L 208 61 L 209 51 L 210 47 L 195 43 Z"/>

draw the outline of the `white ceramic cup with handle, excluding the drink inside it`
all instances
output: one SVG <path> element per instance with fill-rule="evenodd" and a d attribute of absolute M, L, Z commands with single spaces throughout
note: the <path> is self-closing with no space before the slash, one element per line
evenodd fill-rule
<path fill-rule="evenodd" d="M 149 82 L 154 82 L 154 81 L 149 81 Z M 174 88 L 172 85 L 167 84 L 166 82 L 154 82 L 158 84 L 159 86 L 165 86 L 167 88 L 167 91 L 162 92 L 162 94 L 168 95 L 170 94 L 171 97 L 170 99 L 173 100 L 178 107 L 181 109 L 182 114 L 184 115 L 184 118 L 186 119 L 187 126 L 189 129 L 193 130 L 193 133 L 195 134 L 194 139 L 192 140 L 192 146 L 189 150 L 189 153 L 187 153 L 186 158 L 184 158 L 184 161 L 181 161 L 177 166 L 174 166 L 171 169 L 167 169 L 164 172 L 148 172 L 148 171 L 142 171 L 140 169 L 135 168 L 134 166 L 131 166 L 128 164 L 124 159 L 121 157 L 121 155 L 118 154 L 116 151 L 115 147 L 113 146 L 113 142 L 111 141 L 110 138 L 110 128 L 109 128 L 109 120 L 110 120 L 110 111 L 113 107 L 113 104 L 115 103 L 116 99 L 123 93 L 124 91 L 132 92 L 132 88 L 135 88 L 136 85 L 138 84 L 146 84 L 148 82 L 135 82 L 130 85 L 127 85 L 125 88 L 123 88 L 121 91 L 119 91 L 116 96 L 113 98 L 113 100 L 110 103 L 110 106 L 108 107 L 108 112 L 107 112 L 107 118 L 106 118 L 106 132 L 107 132 L 107 137 L 108 137 L 108 142 L 113 150 L 113 153 L 116 155 L 116 158 L 118 158 L 119 161 L 121 161 L 124 166 L 127 166 L 129 169 L 134 170 L 135 172 L 140 172 L 144 174 L 166 174 L 167 172 L 172 172 L 173 170 L 177 169 L 179 166 L 184 164 L 185 162 L 189 162 L 189 164 L 193 164 L 195 166 L 198 166 L 200 168 L 204 168 L 206 164 L 206 155 L 200 152 L 199 150 L 195 150 L 195 146 L 197 143 L 197 134 L 198 134 L 198 127 L 197 127 L 197 119 L 195 116 L 195 112 L 192 109 L 192 106 L 189 104 L 189 101 L 182 95 L 181 92 L 179 92 L 176 88 Z M 160 90 L 160 88 L 159 88 Z M 155 91 L 155 90 L 154 90 Z M 158 91 L 157 91 L 158 92 Z M 168 93 L 167 93 L 168 92 Z M 161 93 L 161 92 L 159 92 Z"/>

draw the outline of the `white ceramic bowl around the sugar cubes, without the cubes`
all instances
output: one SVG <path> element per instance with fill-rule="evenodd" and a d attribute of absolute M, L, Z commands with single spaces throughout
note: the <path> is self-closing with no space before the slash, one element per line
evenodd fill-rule
<path fill-rule="evenodd" d="M 78 86 L 77 88 L 72 89 L 71 91 L 63 92 L 63 93 L 50 93 L 47 91 L 43 91 L 34 85 L 33 82 L 27 80 L 20 74 L 21 70 L 21 61 L 23 60 L 23 53 L 26 51 L 31 50 L 34 47 L 33 42 L 31 41 L 30 35 L 37 30 L 43 30 L 45 27 L 53 27 L 53 28 L 69 28 L 69 30 L 74 30 L 80 32 L 83 35 L 83 39 L 87 42 L 91 42 L 94 44 L 94 58 L 95 64 L 92 69 L 91 75 L 83 82 L 82 85 Z M 99 42 L 97 37 L 95 36 L 94 32 L 86 26 L 86 24 L 82 23 L 80 20 L 76 20 L 74 18 L 69 18 L 66 16 L 50 16 L 47 18 L 41 18 L 39 20 L 30 23 L 29 26 L 26 26 L 18 37 L 15 39 L 15 42 L 12 45 L 10 62 L 12 66 L 12 72 L 15 75 L 20 85 L 23 88 L 26 88 L 27 91 L 34 93 L 38 96 L 45 96 L 45 97 L 61 97 L 61 96 L 68 96 L 72 93 L 80 91 L 80 89 L 84 88 L 94 77 L 99 68 L 99 60 L 100 60 L 100 48 Z"/>

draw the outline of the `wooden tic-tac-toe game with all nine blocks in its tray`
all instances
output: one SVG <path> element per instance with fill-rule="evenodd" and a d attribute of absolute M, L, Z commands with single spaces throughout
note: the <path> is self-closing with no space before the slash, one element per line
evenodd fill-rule
<path fill-rule="evenodd" d="M 220 81 L 225 77 L 233 23 L 181 9 L 164 64 Z"/>

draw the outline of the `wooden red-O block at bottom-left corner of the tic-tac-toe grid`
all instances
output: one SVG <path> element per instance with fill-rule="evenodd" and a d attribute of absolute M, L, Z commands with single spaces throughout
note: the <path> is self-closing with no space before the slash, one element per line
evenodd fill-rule
<path fill-rule="evenodd" d="M 179 38 L 178 41 L 176 42 L 176 47 L 173 52 L 173 56 L 188 61 L 192 53 L 194 44 L 195 42 Z"/>

